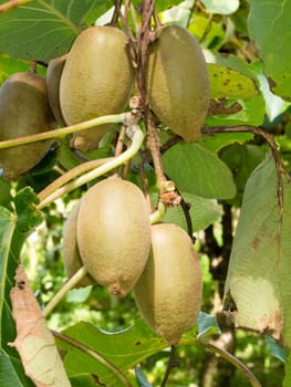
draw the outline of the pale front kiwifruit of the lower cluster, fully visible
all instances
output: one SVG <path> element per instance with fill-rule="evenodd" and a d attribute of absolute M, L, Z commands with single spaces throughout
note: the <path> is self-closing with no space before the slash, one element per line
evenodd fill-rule
<path fill-rule="evenodd" d="M 150 249 L 149 206 L 141 189 L 118 177 L 91 187 L 82 197 L 76 233 L 94 280 L 118 296 L 131 291 Z"/>

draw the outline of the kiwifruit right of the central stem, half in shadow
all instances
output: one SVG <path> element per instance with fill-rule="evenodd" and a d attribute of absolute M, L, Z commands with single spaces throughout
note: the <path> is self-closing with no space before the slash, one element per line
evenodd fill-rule
<path fill-rule="evenodd" d="M 147 93 L 160 122 L 187 142 L 201 137 L 210 101 L 208 70 L 199 43 L 185 28 L 159 30 L 149 52 Z"/>

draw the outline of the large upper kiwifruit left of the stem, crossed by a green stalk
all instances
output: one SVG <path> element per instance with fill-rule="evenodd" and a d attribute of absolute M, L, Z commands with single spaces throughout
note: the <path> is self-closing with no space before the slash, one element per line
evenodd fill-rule
<path fill-rule="evenodd" d="M 66 124 L 122 113 L 133 82 L 124 32 L 106 25 L 84 30 L 75 39 L 61 76 L 60 102 Z M 74 134 L 71 145 L 80 150 L 94 149 L 110 127 Z"/>

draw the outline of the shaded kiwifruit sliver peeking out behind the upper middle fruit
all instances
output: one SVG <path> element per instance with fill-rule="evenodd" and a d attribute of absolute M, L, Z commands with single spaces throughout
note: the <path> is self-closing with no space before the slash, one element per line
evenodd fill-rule
<path fill-rule="evenodd" d="M 52 59 L 46 71 L 48 97 L 53 115 L 61 126 L 65 126 L 65 121 L 60 105 L 60 81 L 67 54 Z"/>

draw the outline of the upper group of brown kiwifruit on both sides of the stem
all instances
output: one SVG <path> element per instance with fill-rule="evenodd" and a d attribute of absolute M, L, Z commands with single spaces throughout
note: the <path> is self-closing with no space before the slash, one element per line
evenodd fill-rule
<path fill-rule="evenodd" d="M 55 128 L 55 121 L 66 126 L 122 113 L 134 81 L 125 33 L 115 27 L 91 27 L 67 54 L 49 63 L 46 83 L 31 72 L 13 74 L 3 83 L 0 140 Z M 146 81 L 148 103 L 159 121 L 186 140 L 198 139 L 209 104 L 209 82 L 195 36 L 178 25 L 159 28 L 149 48 Z M 96 148 L 108 127 L 74 134 L 72 147 Z M 13 179 L 30 170 L 50 145 L 48 140 L 1 150 L 4 176 Z"/>

